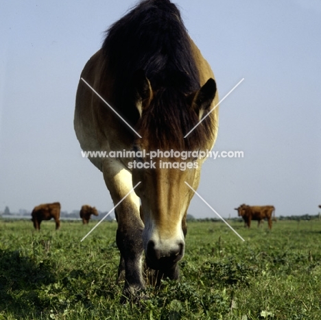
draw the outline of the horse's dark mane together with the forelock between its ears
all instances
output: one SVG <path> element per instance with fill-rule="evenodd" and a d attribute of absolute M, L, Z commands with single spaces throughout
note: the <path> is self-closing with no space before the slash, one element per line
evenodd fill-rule
<path fill-rule="evenodd" d="M 119 112 L 132 124 L 138 121 L 139 114 L 132 104 L 132 78 L 143 70 L 157 93 L 151 112 L 147 112 L 150 119 L 142 124 L 154 129 L 156 138 L 164 142 L 182 140 L 191 125 L 198 122 L 186 96 L 200 89 L 200 79 L 176 5 L 169 0 L 141 1 L 107 30 L 102 51 L 107 61 L 104 72 L 112 75 L 115 107 Z M 193 132 L 196 140 L 209 134 L 210 120 L 203 122 Z M 206 132 L 200 132 L 204 129 Z M 187 139 L 185 145 L 191 147 L 191 140 Z"/>

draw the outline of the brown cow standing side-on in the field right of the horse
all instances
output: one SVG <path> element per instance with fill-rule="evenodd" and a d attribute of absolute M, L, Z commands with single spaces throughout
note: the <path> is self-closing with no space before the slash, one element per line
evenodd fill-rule
<path fill-rule="evenodd" d="M 241 204 L 241 206 L 239 206 L 239 208 L 235 208 L 235 210 L 237 210 L 239 216 L 243 218 L 249 228 L 252 220 L 257 220 L 257 225 L 259 227 L 261 221 L 266 218 L 268 219 L 269 228 L 272 229 L 272 218 L 275 219 L 274 206 L 247 206 L 246 204 Z"/>

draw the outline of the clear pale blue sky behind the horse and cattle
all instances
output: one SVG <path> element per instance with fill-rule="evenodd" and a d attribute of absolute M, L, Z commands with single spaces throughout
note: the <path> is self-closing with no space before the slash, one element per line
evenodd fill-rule
<path fill-rule="evenodd" d="M 219 97 L 215 151 L 198 193 L 223 217 L 239 204 L 276 215 L 321 204 L 321 3 L 178 0 L 191 38 L 212 66 Z M 62 210 L 112 202 L 73 132 L 75 91 L 104 30 L 136 2 L 5 1 L 0 11 L 0 212 L 60 201 Z M 194 197 L 189 213 L 214 217 Z"/>

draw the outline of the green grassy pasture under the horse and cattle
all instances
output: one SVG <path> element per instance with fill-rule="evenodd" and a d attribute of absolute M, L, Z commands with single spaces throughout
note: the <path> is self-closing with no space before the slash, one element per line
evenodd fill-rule
<path fill-rule="evenodd" d="M 119 304 L 117 224 L 0 219 L 2 319 L 321 319 L 321 221 L 189 221 L 180 280 Z"/>

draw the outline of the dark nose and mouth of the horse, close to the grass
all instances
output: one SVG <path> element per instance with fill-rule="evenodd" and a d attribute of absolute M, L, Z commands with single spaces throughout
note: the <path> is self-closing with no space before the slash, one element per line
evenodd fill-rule
<path fill-rule="evenodd" d="M 154 270 L 171 269 L 184 256 L 184 249 L 185 243 L 182 241 L 162 249 L 150 240 L 145 251 L 147 266 Z"/>

